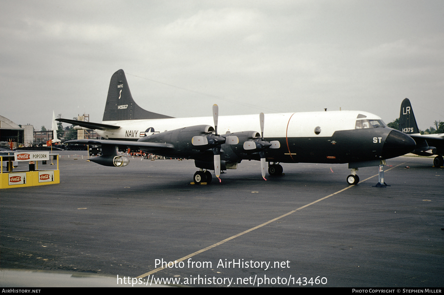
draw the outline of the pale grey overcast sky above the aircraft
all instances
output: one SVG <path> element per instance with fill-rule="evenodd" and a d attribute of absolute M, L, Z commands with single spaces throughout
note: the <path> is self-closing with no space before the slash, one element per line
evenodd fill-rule
<path fill-rule="evenodd" d="M 444 121 L 444 1 L 2 1 L 0 115 L 102 122 L 111 75 L 173 117 L 363 110 Z M 242 130 L 239 130 L 242 131 Z"/>

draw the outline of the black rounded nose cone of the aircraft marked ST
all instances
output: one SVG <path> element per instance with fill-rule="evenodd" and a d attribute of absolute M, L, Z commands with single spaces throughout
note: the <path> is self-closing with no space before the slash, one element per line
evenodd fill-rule
<path fill-rule="evenodd" d="M 382 157 L 384 159 L 389 159 L 393 157 L 398 157 L 410 153 L 416 148 L 416 143 L 407 134 L 392 130 L 385 139 L 384 146 L 382 148 Z"/>

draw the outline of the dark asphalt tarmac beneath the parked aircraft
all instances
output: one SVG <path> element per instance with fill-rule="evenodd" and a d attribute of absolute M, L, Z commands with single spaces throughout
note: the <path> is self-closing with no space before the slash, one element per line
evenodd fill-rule
<path fill-rule="evenodd" d="M 194 161 L 113 168 L 75 153 L 86 155 L 60 152 L 60 184 L 0 191 L 2 271 L 139 287 L 444 286 L 444 168 L 432 157 L 387 160 L 391 186 L 377 188 L 377 167 L 349 186 L 347 164 L 284 163 L 264 181 L 242 161 L 221 183 L 190 185 Z"/>

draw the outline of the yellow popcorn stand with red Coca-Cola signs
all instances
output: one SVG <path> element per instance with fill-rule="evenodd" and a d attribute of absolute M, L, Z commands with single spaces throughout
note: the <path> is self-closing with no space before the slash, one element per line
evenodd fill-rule
<path fill-rule="evenodd" d="M 49 161 L 53 157 L 57 161 L 56 169 L 39 170 L 39 161 Z M 7 161 L 8 165 L 0 170 L 0 189 L 9 189 L 34 185 L 53 185 L 60 183 L 59 155 L 49 152 L 20 152 L 14 155 L 1 156 L 0 162 Z M 12 161 L 29 162 L 27 170 L 14 169 Z"/>

